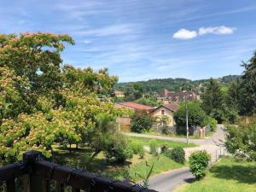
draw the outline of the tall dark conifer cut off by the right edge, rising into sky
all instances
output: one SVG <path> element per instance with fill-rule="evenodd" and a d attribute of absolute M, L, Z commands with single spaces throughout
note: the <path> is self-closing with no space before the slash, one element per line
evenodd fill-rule
<path fill-rule="evenodd" d="M 240 113 L 252 115 L 256 113 L 256 51 L 253 57 L 243 62 L 244 72 L 241 76 L 241 96 L 239 99 Z"/>

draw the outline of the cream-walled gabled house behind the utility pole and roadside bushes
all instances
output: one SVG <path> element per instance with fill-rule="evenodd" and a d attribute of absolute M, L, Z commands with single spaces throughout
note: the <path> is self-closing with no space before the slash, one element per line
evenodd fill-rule
<path fill-rule="evenodd" d="M 158 108 L 154 108 L 154 110 L 152 110 L 150 114 L 156 119 L 162 119 L 163 117 L 167 117 L 167 125 L 173 127 L 175 125 L 173 113 L 178 108 L 179 105 L 176 102 L 171 102 L 163 104 Z"/>

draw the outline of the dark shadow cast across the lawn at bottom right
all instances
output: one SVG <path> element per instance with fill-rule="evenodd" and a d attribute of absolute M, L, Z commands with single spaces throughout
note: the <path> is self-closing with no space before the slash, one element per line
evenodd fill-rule
<path fill-rule="evenodd" d="M 210 172 L 214 177 L 234 179 L 239 183 L 252 184 L 256 181 L 256 165 L 213 166 Z"/>

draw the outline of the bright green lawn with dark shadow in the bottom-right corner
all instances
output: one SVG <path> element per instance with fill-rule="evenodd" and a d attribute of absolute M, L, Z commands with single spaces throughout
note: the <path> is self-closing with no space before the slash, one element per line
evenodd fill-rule
<path fill-rule="evenodd" d="M 252 192 L 256 191 L 256 163 L 222 158 L 212 166 L 207 177 L 185 184 L 176 192 Z"/>

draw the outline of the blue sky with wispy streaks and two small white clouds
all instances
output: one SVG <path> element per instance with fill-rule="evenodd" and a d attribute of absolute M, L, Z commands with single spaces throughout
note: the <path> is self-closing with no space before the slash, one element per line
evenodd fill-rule
<path fill-rule="evenodd" d="M 256 49 L 255 0 L 0 1 L 0 32 L 68 33 L 76 67 L 119 81 L 240 74 Z"/>

